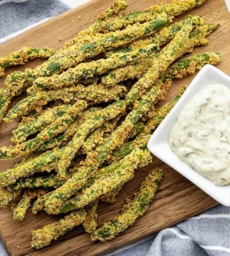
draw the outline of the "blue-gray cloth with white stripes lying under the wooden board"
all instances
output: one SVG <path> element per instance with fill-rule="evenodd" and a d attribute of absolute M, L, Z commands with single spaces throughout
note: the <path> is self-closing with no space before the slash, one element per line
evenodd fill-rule
<path fill-rule="evenodd" d="M 75 1 L 81 4 L 81 0 Z M 55 0 L 0 0 L 0 42 L 69 9 Z M 107 256 L 227 256 L 230 255 L 229 237 L 230 208 L 220 205 Z M 7 256 L 1 241 L 0 256 Z"/>

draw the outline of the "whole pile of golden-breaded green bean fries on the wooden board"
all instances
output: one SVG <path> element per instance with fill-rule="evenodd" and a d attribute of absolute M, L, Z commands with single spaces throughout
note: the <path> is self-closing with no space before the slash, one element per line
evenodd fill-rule
<path fill-rule="evenodd" d="M 0 58 L 0 76 L 10 66 L 48 58 L 34 69 L 11 73 L 0 90 L 0 120 L 19 120 L 0 159 L 23 157 L 0 173 L 0 206 L 11 205 L 17 221 L 30 207 L 33 214 L 65 214 L 32 230 L 33 248 L 48 246 L 77 225 L 92 241 L 104 242 L 147 211 L 163 178 L 158 168 L 116 218 L 98 227 L 98 204 L 116 202 L 135 170 L 151 163 L 146 148 L 151 133 L 187 88 L 157 107 L 173 80 L 221 59 L 218 52 L 183 57 L 208 44 L 206 37 L 219 25 L 197 15 L 173 19 L 204 2 L 177 0 L 119 14 L 128 4 L 116 0 L 55 54 L 24 47 Z M 8 109 L 13 97 L 25 92 Z"/>

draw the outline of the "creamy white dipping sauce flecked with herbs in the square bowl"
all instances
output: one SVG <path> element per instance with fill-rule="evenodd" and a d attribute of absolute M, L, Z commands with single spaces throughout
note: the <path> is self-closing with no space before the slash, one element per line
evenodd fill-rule
<path fill-rule="evenodd" d="M 183 108 L 169 134 L 174 154 L 217 185 L 230 184 L 230 90 L 204 86 Z"/>

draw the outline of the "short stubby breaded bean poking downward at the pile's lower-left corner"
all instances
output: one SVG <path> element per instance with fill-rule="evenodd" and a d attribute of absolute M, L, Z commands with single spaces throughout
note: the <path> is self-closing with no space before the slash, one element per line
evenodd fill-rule
<path fill-rule="evenodd" d="M 24 220 L 26 216 L 26 211 L 31 205 L 31 201 L 38 197 L 39 195 L 45 194 L 47 191 L 43 189 L 39 189 L 36 191 L 25 191 L 22 199 L 20 200 L 19 204 L 16 207 L 12 207 L 13 210 L 13 220 Z"/>

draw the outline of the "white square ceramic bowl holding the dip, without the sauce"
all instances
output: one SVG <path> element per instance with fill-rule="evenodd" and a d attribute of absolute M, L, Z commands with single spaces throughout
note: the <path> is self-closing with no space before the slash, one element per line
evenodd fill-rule
<path fill-rule="evenodd" d="M 208 84 L 224 84 L 230 89 L 230 77 L 212 65 L 205 65 L 153 133 L 148 141 L 148 149 L 153 155 L 174 168 L 174 170 L 193 182 L 197 187 L 203 189 L 204 192 L 217 200 L 217 202 L 230 206 L 230 185 L 216 186 L 211 180 L 206 179 L 203 175 L 183 163 L 169 147 L 169 133 L 173 128 L 174 122 L 176 122 L 176 118 L 178 118 L 181 110 L 195 93 Z"/>

